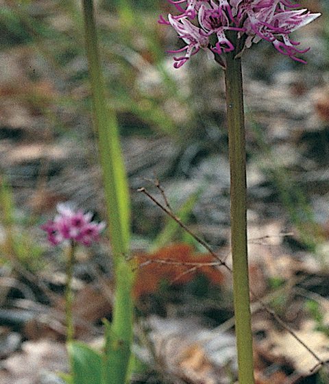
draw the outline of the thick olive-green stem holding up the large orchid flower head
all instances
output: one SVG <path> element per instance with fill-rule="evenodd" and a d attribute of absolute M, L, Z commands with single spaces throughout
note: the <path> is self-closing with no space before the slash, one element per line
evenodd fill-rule
<path fill-rule="evenodd" d="M 234 42 L 232 42 L 234 44 Z M 235 44 L 234 44 L 235 45 Z M 226 104 L 231 175 L 231 246 L 239 384 L 254 384 L 252 328 L 247 263 L 245 119 L 241 59 L 230 52 L 226 61 Z"/>

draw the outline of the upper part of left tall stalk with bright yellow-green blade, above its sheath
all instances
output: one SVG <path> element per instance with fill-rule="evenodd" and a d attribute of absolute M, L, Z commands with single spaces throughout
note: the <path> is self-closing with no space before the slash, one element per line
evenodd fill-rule
<path fill-rule="evenodd" d="M 106 104 L 101 74 L 93 1 L 84 0 L 86 49 L 93 96 L 94 125 L 99 136 L 99 156 L 108 206 L 108 223 L 114 259 L 128 250 L 130 238 L 130 198 L 123 156 L 119 141 L 117 118 Z"/>

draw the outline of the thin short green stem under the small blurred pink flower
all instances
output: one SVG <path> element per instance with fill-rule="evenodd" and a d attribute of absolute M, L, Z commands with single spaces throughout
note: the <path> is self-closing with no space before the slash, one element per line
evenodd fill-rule
<path fill-rule="evenodd" d="M 73 292 L 72 292 L 72 279 L 73 279 L 73 266 L 74 266 L 74 251 L 75 243 L 71 241 L 69 247 L 66 249 L 66 287 L 65 287 L 65 319 L 66 319 L 66 341 L 69 343 L 73 341 L 74 337 L 74 324 L 73 324 Z"/>

